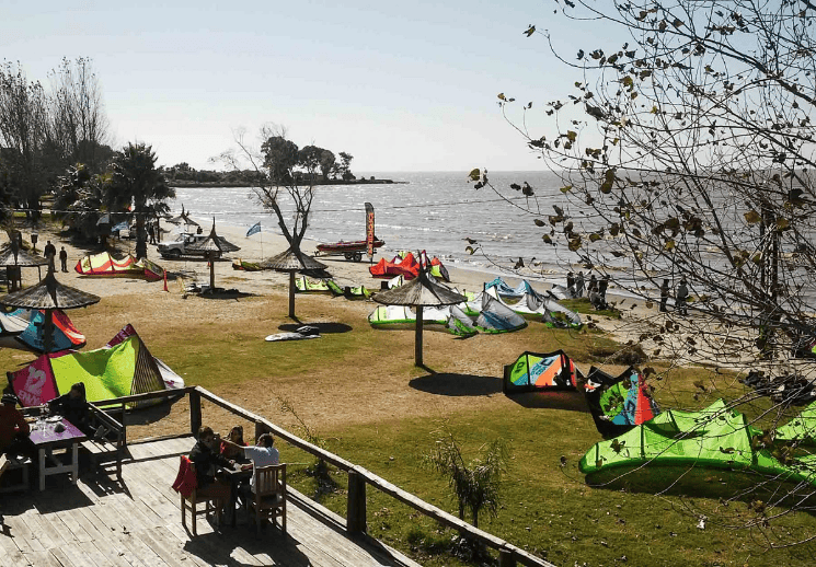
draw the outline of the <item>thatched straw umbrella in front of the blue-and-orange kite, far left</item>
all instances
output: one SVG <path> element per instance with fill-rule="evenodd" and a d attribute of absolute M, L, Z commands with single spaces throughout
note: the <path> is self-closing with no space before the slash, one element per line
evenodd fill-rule
<path fill-rule="evenodd" d="M 45 327 L 43 329 L 43 342 L 45 351 L 49 352 L 54 337 L 53 314 L 55 309 L 87 308 L 99 303 L 99 296 L 88 293 L 76 288 L 64 286 L 54 276 L 54 265 L 48 266 L 45 278 L 28 289 L 15 291 L 0 298 L 0 304 L 18 309 L 42 309 L 45 310 Z"/>

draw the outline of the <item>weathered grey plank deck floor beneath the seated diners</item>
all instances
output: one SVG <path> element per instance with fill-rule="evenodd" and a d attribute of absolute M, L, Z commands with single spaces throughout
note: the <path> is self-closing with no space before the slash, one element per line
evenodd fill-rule
<path fill-rule="evenodd" d="M 241 512 L 220 532 L 204 520 L 198 536 L 181 523 L 180 497 L 170 485 L 192 437 L 129 445 L 125 486 L 85 472 L 77 486 L 47 478 L 46 490 L 0 495 L 5 530 L 0 567 L 366 567 L 418 565 L 368 536 L 350 540 L 345 520 L 292 491 L 287 534 L 266 526 L 261 539 Z"/>

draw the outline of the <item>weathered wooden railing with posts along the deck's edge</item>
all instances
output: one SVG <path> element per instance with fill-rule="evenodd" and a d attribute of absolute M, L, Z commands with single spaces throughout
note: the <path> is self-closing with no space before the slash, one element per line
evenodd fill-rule
<path fill-rule="evenodd" d="M 336 468 L 344 471 L 348 475 L 348 493 L 347 493 L 347 506 L 346 506 L 346 530 L 349 534 L 361 534 L 366 533 L 366 485 L 370 485 L 372 488 L 380 490 L 401 501 L 402 504 L 413 508 L 414 510 L 436 520 L 437 522 L 448 525 L 470 540 L 481 543 L 487 547 L 492 547 L 498 552 L 499 567 L 513 567 L 517 564 L 528 565 L 532 567 L 554 567 L 551 563 L 536 557 L 535 555 L 502 540 L 493 534 L 490 534 L 479 528 L 474 528 L 452 516 L 445 510 L 433 506 L 425 500 L 417 498 L 411 493 L 403 490 L 402 488 L 394 486 L 384 478 L 379 477 L 372 472 L 364 468 L 363 466 L 355 465 L 346 461 L 345 459 L 337 456 L 320 447 L 301 439 L 300 437 L 283 429 L 263 416 L 258 416 L 244 409 L 241 406 L 227 402 L 226 400 L 215 395 L 214 393 L 205 390 L 200 386 L 188 386 L 181 390 L 165 390 L 161 392 L 150 392 L 147 394 L 137 394 L 133 396 L 119 397 L 116 400 L 105 400 L 97 402 L 96 405 L 120 405 L 124 407 L 126 404 L 134 402 L 143 402 L 147 400 L 156 400 L 163 397 L 171 397 L 177 395 L 186 395 L 189 400 L 189 430 L 193 435 L 198 432 L 198 428 L 202 426 L 202 400 L 206 400 L 248 421 L 255 424 L 255 438 L 261 433 L 272 432 L 276 437 L 283 439 L 287 443 L 297 447 L 306 451 L 313 456 L 325 461 L 326 463 L 335 466 Z"/>

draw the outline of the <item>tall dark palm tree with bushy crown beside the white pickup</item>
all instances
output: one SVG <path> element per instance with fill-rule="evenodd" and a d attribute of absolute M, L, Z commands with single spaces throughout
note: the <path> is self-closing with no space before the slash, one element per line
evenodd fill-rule
<path fill-rule="evenodd" d="M 175 197 L 175 190 L 168 186 L 164 175 L 156 167 L 152 147 L 128 142 L 126 148 L 116 152 L 107 189 L 110 202 L 133 200 L 136 215 L 136 257 L 147 257 L 145 220 L 154 213 L 157 205 Z"/>

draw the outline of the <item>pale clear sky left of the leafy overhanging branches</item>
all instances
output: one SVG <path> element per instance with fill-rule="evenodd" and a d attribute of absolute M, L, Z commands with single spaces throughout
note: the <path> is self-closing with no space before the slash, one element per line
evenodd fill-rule
<path fill-rule="evenodd" d="M 67 8 L 72 4 L 72 8 Z M 158 163 L 210 161 L 244 128 L 285 126 L 298 146 L 354 155 L 355 173 L 538 170 L 496 95 L 563 97 L 575 71 L 529 24 L 568 45 L 584 31 L 552 0 L 111 2 L 0 0 L 0 59 L 48 83 L 90 57 L 112 144 Z M 568 47 L 568 49 L 573 49 Z"/>

